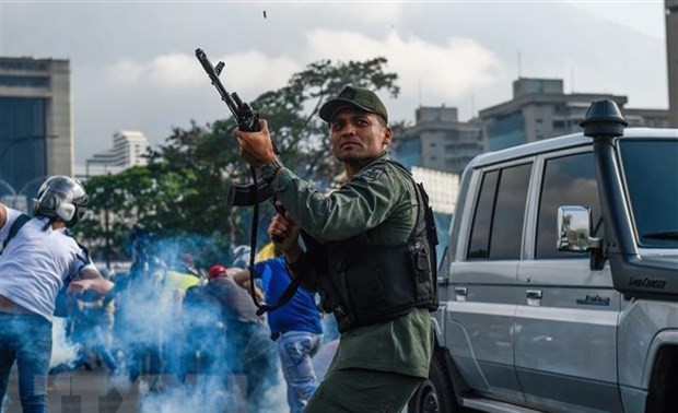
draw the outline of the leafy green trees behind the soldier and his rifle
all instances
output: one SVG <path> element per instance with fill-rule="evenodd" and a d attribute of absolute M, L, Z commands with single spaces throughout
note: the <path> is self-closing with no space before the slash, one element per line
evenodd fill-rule
<path fill-rule="evenodd" d="M 285 86 L 250 102 L 268 120 L 285 166 L 320 189 L 330 185 L 341 165 L 331 155 L 327 125 L 317 111 L 347 84 L 386 90 L 397 97 L 397 74 L 386 72 L 386 63 L 383 57 L 317 61 L 293 74 Z M 232 118 L 203 127 L 191 121 L 186 130 L 174 128 L 165 143 L 148 154 L 147 166 L 89 179 L 93 214 L 77 229 L 90 241 L 93 256 L 124 258 L 129 228 L 140 223 L 159 238 L 187 240 L 186 252 L 206 267 L 230 262 L 231 248 L 249 243 L 253 214 L 252 208 L 233 208 L 227 201 L 231 185 L 252 180 L 232 135 L 234 127 Z M 273 213 L 269 202 L 260 205 L 259 239 L 266 239 Z"/>

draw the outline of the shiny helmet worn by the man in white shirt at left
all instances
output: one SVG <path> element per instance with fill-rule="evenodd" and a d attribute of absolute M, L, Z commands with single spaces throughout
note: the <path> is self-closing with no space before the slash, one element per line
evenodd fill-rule
<path fill-rule="evenodd" d="M 59 219 L 71 227 L 87 210 L 87 194 L 82 182 L 65 175 L 48 178 L 33 200 L 33 214 Z"/>

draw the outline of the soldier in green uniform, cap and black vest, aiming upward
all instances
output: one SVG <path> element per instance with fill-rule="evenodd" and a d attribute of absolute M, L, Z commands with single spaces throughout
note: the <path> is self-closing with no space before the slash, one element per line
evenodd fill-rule
<path fill-rule="evenodd" d="M 319 116 L 348 178 L 326 196 L 282 165 L 265 119 L 259 131 L 234 130 L 241 155 L 287 210 L 269 234 L 283 238 L 291 272 L 318 288 L 342 332 L 305 412 L 400 412 L 426 378 L 432 354 L 429 309 L 436 296 L 426 205 L 409 173 L 389 158 L 393 132 L 376 94 L 347 86 Z M 300 228 L 313 251 L 302 250 Z"/>

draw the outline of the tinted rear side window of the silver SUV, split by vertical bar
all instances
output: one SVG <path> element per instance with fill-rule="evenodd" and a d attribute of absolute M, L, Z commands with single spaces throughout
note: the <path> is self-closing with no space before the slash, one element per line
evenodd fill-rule
<path fill-rule="evenodd" d="M 483 174 L 467 259 L 521 258 L 531 163 Z"/>

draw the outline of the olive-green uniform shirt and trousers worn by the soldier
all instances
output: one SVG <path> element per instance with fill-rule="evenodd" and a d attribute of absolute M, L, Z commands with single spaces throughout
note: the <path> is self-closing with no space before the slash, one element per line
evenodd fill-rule
<path fill-rule="evenodd" d="M 375 161 L 381 160 L 388 154 Z M 364 245 L 405 245 L 417 220 L 411 178 L 385 162 L 370 163 L 329 196 L 287 168 L 271 185 L 295 221 L 320 243 L 358 237 Z M 432 341 L 426 308 L 344 332 L 305 412 L 399 411 L 428 377 Z"/>

